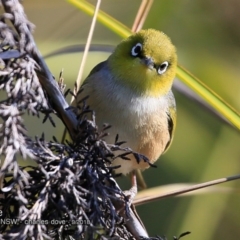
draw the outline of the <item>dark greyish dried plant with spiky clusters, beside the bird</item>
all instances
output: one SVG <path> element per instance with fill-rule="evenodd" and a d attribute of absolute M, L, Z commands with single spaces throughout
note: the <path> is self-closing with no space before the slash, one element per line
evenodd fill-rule
<path fill-rule="evenodd" d="M 109 239 L 133 238 L 124 221 L 131 214 L 128 198 L 116 184 L 110 163 L 127 161 L 130 149 L 109 145 L 98 132 L 84 99 L 67 108 L 61 87 L 49 74 L 33 41 L 32 24 L 18 1 L 2 1 L 0 18 L 1 238 Z M 51 77 L 49 77 L 51 76 Z M 54 97 L 49 92 L 54 91 Z M 59 100 L 60 99 L 60 100 Z M 62 104 L 62 102 L 64 104 Z M 26 113 L 54 124 L 57 114 L 74 141 L 59 143 L 31 138 Z M 90 118 L 87 118 L 87 114 Z M 71 126 L 74 123 L 74 126 Z M 74 132 L 72 131 L 74 129 Z M 133 153 L 137 159 L 142 156 Z M 23 167 L 19 159 L 32 159 Z M 147 160 L 144 158 L 144 160 Z M 116 206 L 120 206 L 119 209 Z"/>

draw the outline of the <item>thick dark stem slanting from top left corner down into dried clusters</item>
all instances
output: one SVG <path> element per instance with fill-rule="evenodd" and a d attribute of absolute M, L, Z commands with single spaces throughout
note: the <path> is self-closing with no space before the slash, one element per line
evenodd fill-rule
<path fill-rule="evenodd" d="M 75 129 L 77 127 L 76 116 L 69 110 L 69 105 L 62 95 L 57 82 L 37 49 L 31 34 L 31 25 L 26 18 L 22 5 L 18 0 L 3 0 L 2 4 L 6 13 L 13 15 L 13 18 L 10 20 L 18 34 L 25 39 L 25 42 L 20 42 L 20 51 L 29 53 L 39 65 L 39 69 L 37 70 L 39 80 L 47 92 L 48 97 L 51 99 L 54 109 L 67 127 L 71 137 L 74 139 L 76 137 Z"/>

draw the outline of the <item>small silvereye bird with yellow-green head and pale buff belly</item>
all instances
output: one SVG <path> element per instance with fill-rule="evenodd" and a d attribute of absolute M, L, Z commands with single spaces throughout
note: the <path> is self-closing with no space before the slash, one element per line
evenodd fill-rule
<path fill-rule="evenodd" d="M 98 126 L 111 125 L 107 143 L 118 134 L 125 146 L 154 163 L 173 137 L 176 106 L 171 87 L 177 67 L 171 40 L 154 29 L 141 30 L 123 40 L 90 72 L 83 84 L 87 104 L 95 111 Z M 149 164 L 134 156 L 116 159 L 116 173 L 146 169 Z"/>

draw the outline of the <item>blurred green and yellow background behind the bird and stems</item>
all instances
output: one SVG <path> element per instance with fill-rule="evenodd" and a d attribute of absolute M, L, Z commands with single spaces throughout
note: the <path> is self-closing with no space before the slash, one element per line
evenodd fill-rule
<path fill-rule="evenodd" d="M 89 1 L 95 4 L 96 1 Z M 101 9 L 131 28 L 140 0 L 102 0 Z M 43 55 L 63 47 L 84 44 L 91 17 L 67 1 L 25 0 L 29 20 L 35 24 L 34 37 Z M 144 28 L 165 32 L 178 49 L 179 63 L 240 111 L 240 1 L 158 0 L 153 3 Z M 97 23 L 93 43 L 115 46 L 120 37 Z M 85 76 L 108 53 L 90 53 Z M 48 58 L 52 74 L 64 69 L 67 88 L 76 79 L 82 54 Z M 178 110 L 175 139 L 157 168 L 143 175 L 148 187 L 172 183 L 199 183 L 240 172 L 240 134 L 209 111 L 182 94 L 175 93 Z M 61 139 L 63 125 L 42 124 L 27 118 L 31 135 L 46 133 Z M 36 127 L 37 126 L 37 127 Z M 130 187 L 126 177 L 119 179 Z M 240 181 L 222 184 L 231 191 L 166 198 L 137 207 L 150 236 L 172 239 L 185 231 L 184 239 L 240 239 Z M 223 189 L 226 190 L 226 189 Z"/>

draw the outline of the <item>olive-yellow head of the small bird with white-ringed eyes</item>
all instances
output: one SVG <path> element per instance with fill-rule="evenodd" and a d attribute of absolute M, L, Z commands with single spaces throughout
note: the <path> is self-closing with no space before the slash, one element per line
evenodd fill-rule
<path fill-rule="evenodd" d="M 163 32 L 141 30 L 116 47 L 108 64 L 115 81 L 141 95 L 157 97 L 171 89 L 176 49 Z"/>

